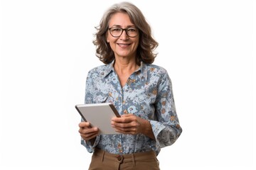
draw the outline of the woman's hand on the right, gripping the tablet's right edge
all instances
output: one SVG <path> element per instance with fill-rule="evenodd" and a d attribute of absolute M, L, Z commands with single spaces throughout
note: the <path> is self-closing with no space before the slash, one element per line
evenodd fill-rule
<path fill-rule="evenodd" d="M 142 133 L 154 139 L 149 121 L 131 113 L 124 114 L 121 118 L 112 118 L 111 125 L 117 132 L 123 134 L 136 135 Z"/>

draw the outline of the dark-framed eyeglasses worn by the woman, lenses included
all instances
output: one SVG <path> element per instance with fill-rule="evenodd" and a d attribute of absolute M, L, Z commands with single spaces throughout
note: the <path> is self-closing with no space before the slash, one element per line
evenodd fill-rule
<path fill-rule="evenodd" d="M 119 38 L 119 36 L 122 35 L 122 32 L 125 30 L 125 33 L 130 37 L 130 38 L 134 38 L 138 35 L 138 29 L 137 28 L 118 28 L 118 27 L 114 27 L 114 28 L 109 28 L 110 30 L 110 34 L 114 37 L 114 38 Z"/>

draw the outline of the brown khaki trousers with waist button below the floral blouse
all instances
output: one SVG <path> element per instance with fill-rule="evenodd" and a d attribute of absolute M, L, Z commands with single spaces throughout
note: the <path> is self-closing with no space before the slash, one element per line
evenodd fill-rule
<path fill-rule="evenodd" d="M 89 170 L 159 170 L 156 153 L 139 152 L 134 154 L 110 154 L 101 149 L 95 149 Z"/>

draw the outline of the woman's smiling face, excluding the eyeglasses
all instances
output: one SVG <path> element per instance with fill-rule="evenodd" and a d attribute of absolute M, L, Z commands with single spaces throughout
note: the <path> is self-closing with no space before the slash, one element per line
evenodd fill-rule
<path fill-rule="evenodd" d="M 127 13 L 114 13 L 114 15 L 112 15 L 112 17 L 110 18 L 109 28 L 136 29 Z M 127 35 L 126 31 L 123 30 L 122 35 L 120 35 L 117 38 L 114 38 L 110 34 L 110 30 L 108 30 L 107 42 L 110 43 L 110 47 L 112 48 L 115 57 L 135 58 L 137 47 L 139 45 L 139 33 L 134 38 L 131 38 Z"/>

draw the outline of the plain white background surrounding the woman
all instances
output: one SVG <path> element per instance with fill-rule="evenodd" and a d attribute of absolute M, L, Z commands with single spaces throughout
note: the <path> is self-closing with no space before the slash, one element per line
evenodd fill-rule
<path fill-rule="evenodd" d="M 75 104 L 102 64 L 92 34 L 115 2 L 1 1 L 0 169 L 87 169 Z M 159 42 L 154 64 L 169 72 L 183 128 L 161 169 L 255 168 L 255 1 L 132 2 Z"/>

